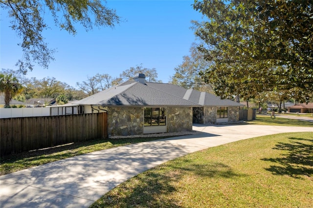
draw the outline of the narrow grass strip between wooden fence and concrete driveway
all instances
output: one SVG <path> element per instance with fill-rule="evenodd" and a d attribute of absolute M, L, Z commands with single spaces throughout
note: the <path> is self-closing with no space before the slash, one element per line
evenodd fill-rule
<path fill-rule="evenodd" d="M 94 139 L 86 142 L 71 143 L 64 146 L 47 148 L 43 150 L 22 152 L 0 157 L 0 175 L 5 175 L 33 166 L 74 157 L 89 152 L 131 145 L 167 137 L 127 138 L 127 139 Z"/>

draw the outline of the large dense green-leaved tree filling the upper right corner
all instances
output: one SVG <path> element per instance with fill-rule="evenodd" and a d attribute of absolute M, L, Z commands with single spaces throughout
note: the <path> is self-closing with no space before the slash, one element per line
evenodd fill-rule
<path fill-rule="evenodd" d="M 196 0 L 208 21 L 195 22 L 212 62 L 201 72 L 216 94 L 253 98 L 261 91 L 288 90 L 299 102 L 313 92 L 313 2 Z"/>

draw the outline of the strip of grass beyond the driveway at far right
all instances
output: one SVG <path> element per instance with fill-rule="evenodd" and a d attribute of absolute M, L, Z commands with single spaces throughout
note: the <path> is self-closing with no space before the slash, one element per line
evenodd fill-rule
<path fill-rule="evenodd" d="M 297 120 L 297 119 L 287 119 L 276 116 L 275 119 L 270 118 L 270 115 L 260 115 L 257 114 L 256 120 L 246 122 L 248 124 L 255 125 L 285 125 L 285 126 L 307 126 L 313 127 L 312 122 Z"/>

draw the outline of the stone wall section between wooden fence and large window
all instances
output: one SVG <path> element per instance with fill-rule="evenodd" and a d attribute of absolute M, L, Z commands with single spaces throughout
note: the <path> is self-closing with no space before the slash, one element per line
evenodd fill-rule
<path fill-rule="evenodd" d="M 109 137 L 143 134 L 143 107 L 109 107 L 108 125 Z"/>

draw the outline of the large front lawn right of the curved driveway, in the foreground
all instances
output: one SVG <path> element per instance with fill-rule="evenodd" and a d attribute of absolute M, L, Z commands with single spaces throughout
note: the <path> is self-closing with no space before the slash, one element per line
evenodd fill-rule
<path fill-rule="evenodd" d="M 91 208 L 312 207 L 312 132 L 208 148 L 145 171 Z"/>

